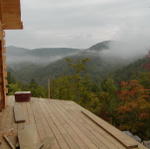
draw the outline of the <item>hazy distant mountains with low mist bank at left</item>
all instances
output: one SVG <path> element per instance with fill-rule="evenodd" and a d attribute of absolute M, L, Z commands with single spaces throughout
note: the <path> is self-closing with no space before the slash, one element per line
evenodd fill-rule
<path fill-rule="evenodd" d="M 7 47 L 7 62 L 8 64 L 18 63 L 34 63 L 34 64 L 48 64 L 50 62 L 59 60 L 65 56 L 78 53 L 79 49 L 73 48 L 39 48 L 39 49 L 25 49 L 15 46 Z"/>

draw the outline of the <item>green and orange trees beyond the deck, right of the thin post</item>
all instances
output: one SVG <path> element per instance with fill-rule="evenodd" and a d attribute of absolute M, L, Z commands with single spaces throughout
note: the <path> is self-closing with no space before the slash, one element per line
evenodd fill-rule
<path fill-rule="evenodd" d="M 140 71 L 138 65 L 140 63 L 141 67 L 141 61 L 136 64 L 138 71 L 125 78 L 137 80 L 120 80 L 121 85 L 114 75 L 116 81 L 109 77 L 95 84 L 86 71 L 89 59 L 66 59 L 66 62 L 72 73 L 53 80 L 53 98 L 73 100 L 121 130 L 130 130 L 144 139 L 150 137 L 150 73 L 143 68 Z M 128 68 L 131 72 L 135 67 L 131 65 Z"/>

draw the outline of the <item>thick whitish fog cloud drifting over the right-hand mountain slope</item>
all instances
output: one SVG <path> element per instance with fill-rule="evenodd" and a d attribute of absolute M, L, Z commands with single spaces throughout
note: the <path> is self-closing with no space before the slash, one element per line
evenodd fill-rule
<path fill-rule="evenodd" d="M 145 56 L 150 51 L 150 29 L 147 28 L 148 24 L 143 24 L 140 19 L 134 21 L 123 25 L 110 43 L 110 49 L 100 54 L 127 60 Z"/>

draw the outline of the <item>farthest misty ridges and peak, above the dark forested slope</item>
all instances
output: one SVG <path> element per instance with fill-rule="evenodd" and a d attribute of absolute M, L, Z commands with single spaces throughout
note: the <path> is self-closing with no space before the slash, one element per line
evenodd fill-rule
<path fill-rule="evenodd" d="M 146 55 L 148 48 L 140 47 L 135 52 L 130 43 L 118 41 L 103 41 L 97 43 L 87 49 L 75 48 L 38 48 L 25 49 L 21 47 L 7 47 L 8 64 L 33 63 L 33 64 L 49 64 L 60 60 L 66 56 L 99 56 L 103 59 L 122 59 L 132 60 Z M 150 47 L 150 46 L 149 46 Z M 124 49 L 124 50 L 122 50 Z M 134 53 L 133 53 L 134 51 Z M 114 60 L 115 60 L 114 59 Z"/>

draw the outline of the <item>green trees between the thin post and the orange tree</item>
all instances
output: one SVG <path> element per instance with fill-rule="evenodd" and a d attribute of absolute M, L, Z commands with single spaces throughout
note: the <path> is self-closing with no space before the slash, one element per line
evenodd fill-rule
<path fill-rule="evenodd" d="M 116 115 L 117 87 L 111 78 L 104 80 L 100 88 L 95 85 L 86 72 L 89 61 L 87 58 L 78 61 L 66 59 L 73 73 L 53 81 L 52 97 L 73 100 L 102 118 L 115 123 L 112 117 Z"/>

